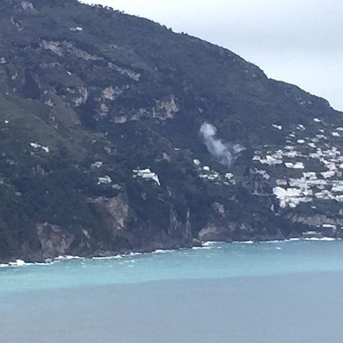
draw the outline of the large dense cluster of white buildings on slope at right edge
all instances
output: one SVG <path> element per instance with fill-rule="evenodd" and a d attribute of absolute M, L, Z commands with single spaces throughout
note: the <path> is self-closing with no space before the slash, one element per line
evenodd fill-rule
<path fill-rule="evenodd" d="M 322 121 L 315 118 L 314 122 Z M 276 124 L 273 128 L 282 130 Z M 305 137 L 305 130 L 305 126 L 298 125 L 295 132 L 287 135 L 283 149 L 265 147 L 264 152 L 255 153 L 253 161 L 259 163 L 260 169 L 263 165 L 268 171 L 278 168 L 273 192 L 283 208 L 316 200 L 343 202 L 343 141 L 338 140 L 341 134 L 343 137 L 343 128 L 320 128 L 314 137 Z M 285 168 L 284 176 L 281 167 Z M 263 170 L 259 174 L 270 176 Z"/>

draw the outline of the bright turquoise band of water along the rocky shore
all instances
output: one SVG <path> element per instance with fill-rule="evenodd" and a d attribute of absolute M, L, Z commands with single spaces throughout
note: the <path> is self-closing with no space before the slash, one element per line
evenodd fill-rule
<path fill-rule="evenodd" d="M 272 276 L 343 270 L 343 241 L 211 243 L 108 259 L 64 259 L 0 268 L 0 294 L 147 281 Z"/>

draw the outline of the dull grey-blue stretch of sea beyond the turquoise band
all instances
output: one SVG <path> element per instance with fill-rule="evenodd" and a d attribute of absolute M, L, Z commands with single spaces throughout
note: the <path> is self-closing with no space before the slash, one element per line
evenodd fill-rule
<path fill-rule="evenodd" d="M 150 281 L 12 294 L 0 341 L 342 342 L 343 272 Z"/>

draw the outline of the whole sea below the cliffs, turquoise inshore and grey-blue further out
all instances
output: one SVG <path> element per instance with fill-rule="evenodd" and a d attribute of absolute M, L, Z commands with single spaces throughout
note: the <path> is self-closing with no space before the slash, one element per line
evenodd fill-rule
<path fill-rule="evenodd" d="M 343 342 L 343 241 L 0 266 L 1 343 Z"/>

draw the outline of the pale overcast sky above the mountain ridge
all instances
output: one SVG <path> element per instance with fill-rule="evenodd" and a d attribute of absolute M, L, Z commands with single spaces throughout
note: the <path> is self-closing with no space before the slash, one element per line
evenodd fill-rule
<path fill-rule="evenodd" d="M 234 51 L 343 111 L 342 0 L 82 0 Z"/>

